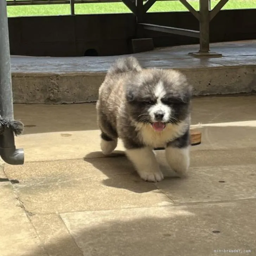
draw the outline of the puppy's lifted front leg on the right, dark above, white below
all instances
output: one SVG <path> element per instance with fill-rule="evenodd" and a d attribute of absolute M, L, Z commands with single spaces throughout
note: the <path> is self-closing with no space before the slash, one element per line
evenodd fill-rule
<path fill-rule="evenodd" d="M 184 176 L 190 165 L 190 132 L 167 143 L 165 155 L 168 165 L 180 176 Z"/>

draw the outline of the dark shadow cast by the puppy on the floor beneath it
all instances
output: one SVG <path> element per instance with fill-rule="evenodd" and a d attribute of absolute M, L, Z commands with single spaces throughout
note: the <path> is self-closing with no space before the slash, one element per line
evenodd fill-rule
<path fill-rule="evenodd" d="M 158 159 L 161 171 L 165 175 L 165 180 L 172 183 L 174 179 L 179 177 L 162 161 L 161 154 L 159 158 L 159 153 L 156 154 L 156 158 Z M 107 157 L 100 151 L 91 152 L 84 157 L 84 161 L 92 164 L 108 177 L 102 181 L 102 184 L 105 186 L 122 188 L 135 193 L 145 193 L 158 189 L 154 183 L 149 183 L 139 177 L 124 151 L 114 151 Z"/>

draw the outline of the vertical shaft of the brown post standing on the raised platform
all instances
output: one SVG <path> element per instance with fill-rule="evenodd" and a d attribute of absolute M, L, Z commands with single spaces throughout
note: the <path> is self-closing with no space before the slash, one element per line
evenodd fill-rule
<path fill-rule="evenodd" d="M 199 0 L 200 53 L 210 51 L 210 12 L 209 0 Z"/>

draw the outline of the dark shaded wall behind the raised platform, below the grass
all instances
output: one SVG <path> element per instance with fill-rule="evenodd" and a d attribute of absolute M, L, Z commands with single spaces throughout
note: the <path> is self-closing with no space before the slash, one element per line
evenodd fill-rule
<path fill-rule="evenodd" d="M 211 21 L 211 42 L 255 39 L 255 13 L 256 9 L 220 11 Z M 15 17 L 8 22 L 12 55 L 84 56 L 89 48 L 98 49 L 99 56 L 123 55 L 131 53 L 129 42 L 136 38 L 132 13 Z M 189 12 L 147 13 L 145 23 L 199 29 Z M 199 43 L 197 38 L 157 31 L 144 31 L 143 37 L 153 38 L 155 47 Z"/>

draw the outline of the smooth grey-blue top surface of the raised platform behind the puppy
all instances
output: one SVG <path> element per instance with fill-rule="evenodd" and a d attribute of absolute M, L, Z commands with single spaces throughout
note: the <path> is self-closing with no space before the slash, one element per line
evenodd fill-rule
<path fill-rule="evenodd" d="M 248 66 L 256 63 L 256 40 L 211 44 L 211 51 L 221 53 L 221 58 L 195 58 L 188 53 L 198 52 L 199 45 L 156 48 L 153 51 L 133 54 L 146 68 L 198 69 L 231 66 Z M 116 58 L 105 57 L 27 57 L 12 56 L 14 73 L 98 73 L 105 74 Z"/>

